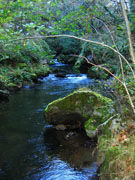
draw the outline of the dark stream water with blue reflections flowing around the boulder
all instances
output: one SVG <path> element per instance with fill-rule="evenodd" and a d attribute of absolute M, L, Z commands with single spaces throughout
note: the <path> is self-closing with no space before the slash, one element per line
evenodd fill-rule
<path fill-rule="evenodd" d="M 65 142 L 57 143 L 55 131 L 48 131 L 43 111 L 49 102 L 88 86 L 92 80 L 84 74 L 68 74 L 65 78 L 50 74 L 42 81 L 33 88 L 26 86 L 10 96 L 8 103 L 0 104 L 0 180 L 91 179 L 97 164 L 93 160 L 84 165 L 81 159 L 89 160 L 92 151 L 82 148 L 78 134 L 80 142 L 73 142 L 74 155 Z"/>

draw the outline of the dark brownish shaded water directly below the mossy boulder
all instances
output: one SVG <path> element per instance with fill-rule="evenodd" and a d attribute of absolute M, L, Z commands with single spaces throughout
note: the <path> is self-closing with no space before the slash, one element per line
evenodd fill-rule
<path fill-rule="evenodd" d="M 82 130 L 57 131 L 48 128 L 44 134 L 44 141 L 48 155 L 66 162 L 71 167 L 70 172 L 74 178 L 75 174 L 79 173 L 82 175 L 76 176 L 76 179 L 86 179 L 86 174 L 87 178 L 96 179 L 96 144 Z M 72 176 L 67 178 L 72 179 Z"/>

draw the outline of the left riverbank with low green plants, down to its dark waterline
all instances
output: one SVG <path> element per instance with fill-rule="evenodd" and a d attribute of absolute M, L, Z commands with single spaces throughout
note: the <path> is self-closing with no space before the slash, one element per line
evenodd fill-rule
<path fill-rule="evenodd" d="M 38 82 L 39 77 L 45 77 L 51 72 L 47 64 L 18 63 L 16 66 L 0 65 L 0 100 L 7 99 L 8 95 L 25 85 Z"/>

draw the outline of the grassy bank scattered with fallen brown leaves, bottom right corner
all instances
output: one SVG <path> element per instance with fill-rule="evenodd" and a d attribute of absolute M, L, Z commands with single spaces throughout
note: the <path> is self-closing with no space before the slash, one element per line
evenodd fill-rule
<path fill-rule="evenodd" d="M 135 124 L 127 123 L 119 133 L 98 140 L 101 180 L 135 179 Z"/>

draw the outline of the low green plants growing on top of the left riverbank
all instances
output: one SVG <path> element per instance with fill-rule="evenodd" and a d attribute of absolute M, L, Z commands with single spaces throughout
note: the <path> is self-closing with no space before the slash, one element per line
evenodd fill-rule
<path fill-rule="evenodd" d="M 35 81 L 38 77 L 45 76 L 49 72 L 50 68 L 42 64 L 19 63 L 16 67 L 0 66 L 0 89 L 7 89 L 12 84 L 22 86 L 25 81 Z"/>

